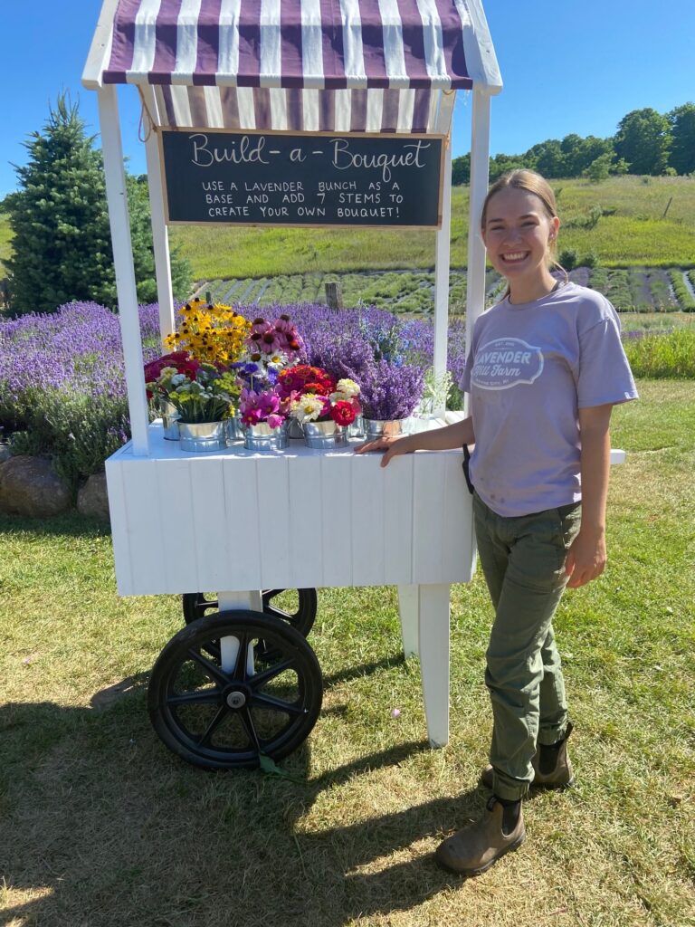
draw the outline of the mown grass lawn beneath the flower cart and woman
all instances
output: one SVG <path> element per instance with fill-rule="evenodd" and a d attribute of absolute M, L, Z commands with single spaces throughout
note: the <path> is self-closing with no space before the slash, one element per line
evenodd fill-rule
<path fill-rule="evenodd" d="M 534 794 L 524 846 L 468 882 L 432 852 L 485 800 L 480 576 L 452 594 L 448 747 L 425 743 L 396 590 L 321 590 L 322 716 L 282 764 L 299 782 L 209 774 L 169 753 L 145 712 L 148 671 L 183 626 L 178 599 L 118 599 L 103 527 L 4 518 L 4 922 L 695 924 L 695 394 L 639 386 L 614 413 L 628 456 L 613 468 L 607 572 L 556 621 L 577 785 Z"/>

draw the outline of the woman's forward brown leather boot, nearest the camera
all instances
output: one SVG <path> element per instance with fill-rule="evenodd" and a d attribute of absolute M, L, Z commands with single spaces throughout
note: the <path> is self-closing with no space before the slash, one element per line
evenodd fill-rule
<path fill-rule="evenodd" d="M 503 813 L 504 807 L 493 795 L 480 820 L 466 825 L 437 846 L 435 857 L 439 865 L 461 875 L 480 875 L 499 857 L 521 846 L 526 838 L 521 807 L 516 826 L 509 833 L 502 827 Z"/>

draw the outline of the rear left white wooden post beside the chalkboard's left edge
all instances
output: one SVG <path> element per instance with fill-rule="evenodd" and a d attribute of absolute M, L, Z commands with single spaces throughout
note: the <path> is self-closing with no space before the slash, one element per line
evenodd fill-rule
<path fill-rule="evenodd" d="M 153 88 L 147 84 L 141 88 L 145 107 L 152 119 L 159 122 L 157 99 Z M 146 119 L 147 113 L 145 113 Z M 152 241 L 155 248 L 155 273 L 157 275 L 157 298 L 159 301 L 159 334 L 162 339 L 175 330 L 173 292 L 171 289 L 171 257 L 169 253 L 169 230 L 164 218 L 164 178 L 162 177 L 157 132 L 147 126 L 145 156 L 147 159 L 147 184 L 149 205 L 152 215 Z"/>

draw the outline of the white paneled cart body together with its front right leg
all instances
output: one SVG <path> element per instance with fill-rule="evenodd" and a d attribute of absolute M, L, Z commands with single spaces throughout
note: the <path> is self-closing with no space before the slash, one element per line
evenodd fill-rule
<path fill-rule="evenodd" d="M 198 457 L 158 424 L 151 440 L 147 458 L 129 444 L 107 461 L 120 594 L 221 590 L 221 601 L 253 607 L 246 590 L 396 585 L 429 739 L 447 743 L 449 585 L 474 571 L 462 452 L 419 451 L 383 468 L 349 446 Z"/>

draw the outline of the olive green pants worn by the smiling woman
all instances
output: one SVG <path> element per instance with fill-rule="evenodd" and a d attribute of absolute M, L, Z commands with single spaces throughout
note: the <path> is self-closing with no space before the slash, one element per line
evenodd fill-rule
<path fill-rule="evenodd" d="M 495 621 L 486 652 L 492 699 L 490 763 L 499 798 L 523 798 L 537 744 L 556 743 L 567 703 L 552 618 L 567 582 L 564 563 L 581 503 L 503 518 L 474 495 L 478 556 Z"/>

